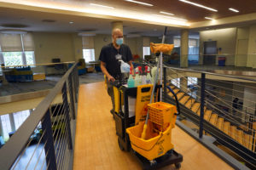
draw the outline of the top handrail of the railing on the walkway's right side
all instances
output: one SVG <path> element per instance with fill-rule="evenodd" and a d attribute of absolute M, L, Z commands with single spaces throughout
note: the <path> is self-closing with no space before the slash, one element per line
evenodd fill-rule
<path fill-rule="evenodd" d="M 212 76 L 229 77 L 229 78 L 241 79 L 241 80 L 245 80 L 245 81 L 256 82 L 255 79 L 245 78 L 245 77 L 234 77 L 234 76 L 229 76 L 229 75 L 222 75 L 222 74 L 218 74 L 218 73 L 212 73 L 212 72 L 208 72 L 208 71 L 195 71 L 195 70 L 191 70 L 191 69 L 181 69 L 181 68 L 167 66 L 167 65 L 164 65 L 164 67 L 169 68 L 169 69 L 173 69 L 173 70 L 178 70 L 178 71 L 186 71 L 186 72 L 189 71 L 189 72 L 195 72 L 195 73 L 205 73 L 207 75 L 212 75 Z"/>

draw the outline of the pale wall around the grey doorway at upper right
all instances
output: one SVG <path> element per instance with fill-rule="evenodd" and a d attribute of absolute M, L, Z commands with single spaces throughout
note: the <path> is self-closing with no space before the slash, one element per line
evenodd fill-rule
<path fill-rule="evenodd" d="M 236 54 L 236 28 L 226 28 L 200 32 L 200 54 L 203 54 L 203 45 L 207 41 L 217 41 L 217 48 L 222 48 L 222 54 L 226 56 L 226 65 L 235 64 Z M 202 62 L 202 59 L 200 59 Z"/>

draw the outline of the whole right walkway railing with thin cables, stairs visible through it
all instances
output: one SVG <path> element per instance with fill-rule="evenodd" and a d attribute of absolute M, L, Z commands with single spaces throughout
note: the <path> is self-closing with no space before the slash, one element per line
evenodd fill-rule
<path fill-rule="evenodd" d="M 197 125 L 191 128 L 199 139 L 210 134 L 241 156 L 247 167 L 256 168 L 256 81 L 168 66 L 164 75 L 164 99 L 174 104 L 166 88 L 169 84 L 176 89 L 183 118 Z"/>

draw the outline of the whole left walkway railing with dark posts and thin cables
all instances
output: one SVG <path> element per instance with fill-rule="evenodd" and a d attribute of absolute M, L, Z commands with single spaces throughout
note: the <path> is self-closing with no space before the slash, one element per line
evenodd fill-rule
<path fill-rule="evenodd" d="M 71 169 L 79 88 L 77 63 L 0 149 L 0 169 Z"/>

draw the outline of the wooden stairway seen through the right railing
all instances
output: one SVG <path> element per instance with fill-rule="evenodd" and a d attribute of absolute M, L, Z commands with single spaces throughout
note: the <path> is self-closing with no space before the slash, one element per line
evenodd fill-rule
<path fill-rule="evenodd" d="M 201 113 L 201 103 L 196 101 L 189 94 L 184 93 L 179 88 L 175 86 L 170 86 L 173 92 L 177 95 L 177 99 L 180 104 L 187 107 L 189 110 L 193 111 L 197 116 L 200 116 Z M 171 92 L 168 93 L 172 99 L 174 96 Z M 212 126 L 218 127 L 218 129 L 225 134 L 229 135 L 230 138 L 236 140 L 239 144 L 243 145 L 249 150 L 255 150 L 256 143 L 256 135 L 248 134 L 244 132 L 240 127 L 236 127 L 232 125 L 228 120 L 224 119 L 224 117 L 218 116 L 217 113 L 212 112 L 206 106 L 204 107 L 204 120 L 210 122 Z M 254 140 L 254 141 L 253 141 Z"/>

